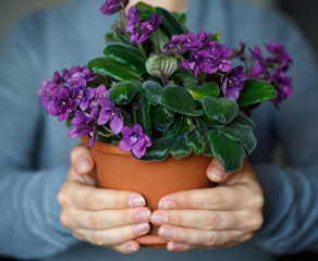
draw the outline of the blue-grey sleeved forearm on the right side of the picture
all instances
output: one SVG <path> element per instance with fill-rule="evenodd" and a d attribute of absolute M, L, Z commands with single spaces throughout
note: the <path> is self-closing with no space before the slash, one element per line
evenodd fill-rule
<path fill-rule="evenodd" d="M 265 194 L 265 223 L 254 240 L 274 254 L 318 251 L 318 170 L 254 166 Z"/>

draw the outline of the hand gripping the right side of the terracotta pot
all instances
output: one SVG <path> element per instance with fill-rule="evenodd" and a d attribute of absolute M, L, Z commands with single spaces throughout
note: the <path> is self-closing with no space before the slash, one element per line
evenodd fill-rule
<path fill-rule="evenodd" d="M 164 196 L 152 224 L 168 239 L 169 251 L 229 248 L 252 238 L 262 225 L 264 196 L 248 161 L 225 174 L 213 159 L 207 176 L 217 187 Z"/>

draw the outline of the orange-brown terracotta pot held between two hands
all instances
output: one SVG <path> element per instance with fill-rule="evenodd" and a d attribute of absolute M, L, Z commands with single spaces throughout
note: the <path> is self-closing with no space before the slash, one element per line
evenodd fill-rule
<path fill-rule="evenodd" d="M 84 144 L 87 137 L 81 137 Z M 186 189 L 211 187 L 206 169 L 211 158 L 195 156 L 183 159 L 168 157 L 160 162 L 136 160 L 130 152 L 123 152 L 118 146 L 97 141 L 91 149 L 96 163 L 96 175 L 100 187 L 132 190 L 142 194 L 147 207 L 158 209 L 161 197 Z M 140 245 L 164 248 L 167 240 L 157 235 L 158 227 L 152 226 L 149 235 L 137 238 Z"/>

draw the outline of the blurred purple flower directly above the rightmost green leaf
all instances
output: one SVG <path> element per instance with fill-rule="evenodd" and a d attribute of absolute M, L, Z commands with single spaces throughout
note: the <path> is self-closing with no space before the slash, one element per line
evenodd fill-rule
<path fill-rule="evenodd" d="M 253 79 L 266 79 L 270 82 L 270 73 L 268 71 L 268 67 L 265 64 L 264 55 L 257 45 L 254 46 L 254 50 L 249 48 L 249 51 L 252 53 L 252 61 L 255 61 L 256 63 L 250 70 L 249 77 Z"/>

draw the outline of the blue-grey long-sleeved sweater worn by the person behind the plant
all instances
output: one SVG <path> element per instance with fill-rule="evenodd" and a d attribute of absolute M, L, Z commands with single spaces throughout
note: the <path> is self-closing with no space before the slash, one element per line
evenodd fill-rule
<path fill-rule="evenodd" d="M 84 260 L 271 260 L 318 250 L 318 88 L 307 42 L 279 14 L 234 0 L 192 0 L 188 27 L 222 32 L 222 42 L 276 40 L 294 59 L 295 95 L 281 111 L 265 102 L 253 117 L 258 147 L 249 158 L 262 186 L 265 224 L 255 237 L 232 249 L 169 253 L 143 249 L 123 256 L 80 243 L 60 221 L 57 194 L 78 140 L 39 105 L 40 80 L 57 70 L 86 64 L 101 54 L 103 34 L 115 16 L 99 13 L 102 0 L 75 0 L 16 23 L 0 51 L 0 256 L 57 261 Z M 262 48 L 264 50 L 264 48 Z M 286 166 L 273 164 L 280 145 Z"/>

